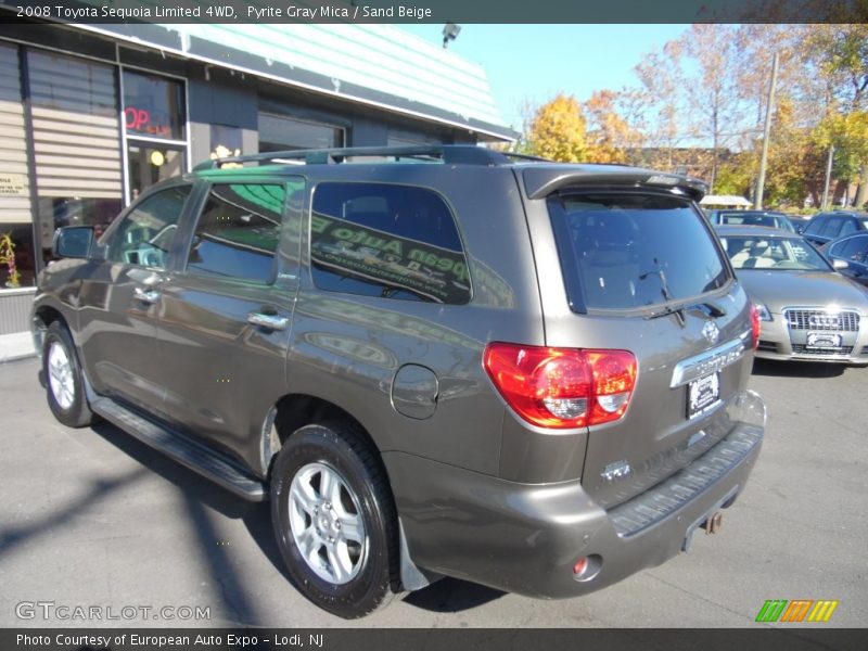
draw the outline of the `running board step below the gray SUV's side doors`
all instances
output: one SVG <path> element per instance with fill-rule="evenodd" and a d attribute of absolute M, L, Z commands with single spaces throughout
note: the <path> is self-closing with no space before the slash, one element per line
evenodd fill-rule
<path fill-rule="evenodd" d="M 219 451 L 153 423 L 111 398 L 90 401 L 90 408 L 142 443 L 158 449 L 190 470 L 251 501 L 263 501 L 268 492 L 258 478 L 245 473 Z"/>

